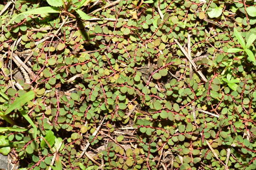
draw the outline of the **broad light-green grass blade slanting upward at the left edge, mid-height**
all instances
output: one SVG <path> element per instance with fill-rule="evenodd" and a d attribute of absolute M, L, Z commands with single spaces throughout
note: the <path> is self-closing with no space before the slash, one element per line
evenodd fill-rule
<path fill-rule="evenodd" d="M 35 92 L 30 91 L 27 92 L 20 97 L 16 98 L 15 101 L 9 106 L 9 108 L 5 111 L 4 115 L 9 114 L 12 110 L 18 109 L 23 106 L 26 102 L 31 101 L 35 97 Z"/>

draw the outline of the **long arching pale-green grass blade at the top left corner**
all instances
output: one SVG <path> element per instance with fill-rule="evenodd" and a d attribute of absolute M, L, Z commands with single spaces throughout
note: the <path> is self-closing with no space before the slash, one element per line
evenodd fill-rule
<path fill-rule="evenodd" d="M 10 19 L 10 21 L 5 25 L 8 26 L 10 23 L 12 23 L 17 17 L 21 15 L 38 15 L 38 14 L 45 14 L 45 13 L 60 13 L 60 9 L 56 7 L 41 7 L 41 8 L 35 8 L 31 9 L 29 11 L 22 12 Z"/>

